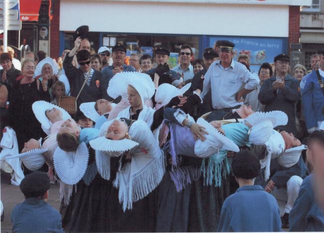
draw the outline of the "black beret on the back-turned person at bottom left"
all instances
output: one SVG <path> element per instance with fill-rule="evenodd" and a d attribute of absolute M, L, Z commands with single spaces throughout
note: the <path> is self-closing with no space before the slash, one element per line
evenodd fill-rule
<path fill-rule="evenodd" d="M 42 198 L 50 187 L 48 175 L 45 172 L 34 171 L 25 176 L 20 183 L 20 190 L 25 198 Z"/>

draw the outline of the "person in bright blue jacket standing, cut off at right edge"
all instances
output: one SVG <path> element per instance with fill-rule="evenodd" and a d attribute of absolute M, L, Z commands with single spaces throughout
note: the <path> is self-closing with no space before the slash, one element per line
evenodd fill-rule
<path fill-rule="evenodd" d="M 324 70 L 324 56 L 322 56 L 320 66 Z M 322 85 L 324 85 L 324 72 L 320 72 L 320 70 L 312 71 L 302 92 L 303 112 L 309 133 L 324 124 L 324 87 L 321 88 L 317 76 L 317 72 L 319 72 Z"/>

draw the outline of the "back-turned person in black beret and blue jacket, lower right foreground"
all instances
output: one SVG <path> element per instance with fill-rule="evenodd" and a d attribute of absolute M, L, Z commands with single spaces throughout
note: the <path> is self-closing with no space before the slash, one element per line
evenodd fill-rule
<path fill-rule="evenodd" d="M 260 173 L 260 161 L 248 150 L 238 152 L 232 172 L 240 188 L 222 207 L 217 232 L 279 232 L 281 220 L 276 199 L 254 185 Z"/>

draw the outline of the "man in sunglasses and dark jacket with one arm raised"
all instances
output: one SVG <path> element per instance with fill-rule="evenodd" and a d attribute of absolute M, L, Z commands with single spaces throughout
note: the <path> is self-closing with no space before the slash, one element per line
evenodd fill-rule
<path fill-rule="evenodd" d="M 109 99 L 107 94 L 107 80 L 103 79 L 101 72 L 91 68 L 90 53 L 85 49 L 79 50 L 80 44 L 81 38 L 78 37 L 74 41 L 74 48 L 67 53 L 63 61 L 63 68 L 71 88 L 71 96 L 77 97 L 80 93 L 77 100 L 78 107 L 85 102 Z M 76 54 L 77 51 L 78 53 Z M 75 54 L 80 65 L 78 69 L 72 65 Z M 82 89 L 85 81 L 86 83 Z"/>

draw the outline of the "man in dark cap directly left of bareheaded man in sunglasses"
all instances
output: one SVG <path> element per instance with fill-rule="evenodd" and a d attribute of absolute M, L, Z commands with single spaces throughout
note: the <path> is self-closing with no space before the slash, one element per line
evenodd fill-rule
<path fill-rule="evenodd" d="M 170 51 L 164 47 L 158 47 L 155 50 L 155 60 L 158 63 L 157 68 L 153 68 L 147 72 L 151 76 L 152 80 L 156 80 L 157 86 L 163 83 L 172 84 L 178 86 L 180 84 L 180 76 L 173 70 L 170 70 L 167 65 Z"/>

